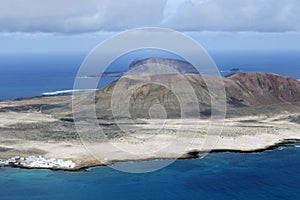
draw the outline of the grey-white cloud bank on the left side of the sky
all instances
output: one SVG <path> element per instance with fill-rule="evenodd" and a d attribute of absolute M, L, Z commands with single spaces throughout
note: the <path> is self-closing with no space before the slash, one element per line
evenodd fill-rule
<path fill-rule="evenodd" d="M 0 31 L 90 32 L 154 26 L 165 0 L 7 0 L 0 4 Z"/>

